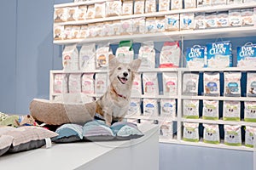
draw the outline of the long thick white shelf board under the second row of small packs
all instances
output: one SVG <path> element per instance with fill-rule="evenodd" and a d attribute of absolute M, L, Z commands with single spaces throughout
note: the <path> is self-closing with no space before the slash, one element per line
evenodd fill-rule
<path fill-rule="evenodd" d="M 252 37 L 255 36 L 256 26 L 247 27 L 228 27 L 228 28 L 216 28 L 205 30 L 188 30 L 188 31 L 169 31 L 169 32 L 157 32 L 148 34 L 135 34 L 113 37 L 88 37 L 84 39 L 72 39 L 72 40 L 54 40 L 55 44 L 65 45 L 72 43 L 88 43 L 88 42 L 119 42 L 124 39 L 133 40 L 135 42 L 166 42 L 180 40 L 183 37 L 185 40 L 192 39 L 208 39 L 212 37 Z"/>

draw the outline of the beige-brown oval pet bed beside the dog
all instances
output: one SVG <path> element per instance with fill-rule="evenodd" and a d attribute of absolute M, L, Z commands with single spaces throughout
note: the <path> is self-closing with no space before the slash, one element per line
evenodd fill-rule
<path fill-rule="evenodd" d="M 30 104 L 31 115 L 40 122 L 49 125 L 61 125 L 70 122 L 87 122 L 93 119 L 96 103 L 63 104 L 47 99 L 33 99 Z"/>

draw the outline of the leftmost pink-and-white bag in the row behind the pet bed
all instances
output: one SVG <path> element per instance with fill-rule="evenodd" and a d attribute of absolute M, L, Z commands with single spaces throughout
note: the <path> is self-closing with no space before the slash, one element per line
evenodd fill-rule
<path fill-rule="evenodd" d="M 67 74 L 55 74 L 53 89 L 55 94 L 67 94 Z"/>

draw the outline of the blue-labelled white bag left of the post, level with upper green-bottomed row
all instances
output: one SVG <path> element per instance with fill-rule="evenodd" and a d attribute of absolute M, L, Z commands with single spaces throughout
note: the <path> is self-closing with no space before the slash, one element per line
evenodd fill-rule
<path fill-rule="evenodd" d="M 160 116 L 172 118 L 176 116 L 175 99 L 160 99 Z"/>

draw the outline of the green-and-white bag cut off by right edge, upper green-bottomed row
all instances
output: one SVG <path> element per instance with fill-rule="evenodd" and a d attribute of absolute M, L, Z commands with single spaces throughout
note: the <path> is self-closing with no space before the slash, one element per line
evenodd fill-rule
<path fill-rule="evenodd" d="M 255 101 L 244 102 L 244 121 L 256 122 L 256 102 Z"/>

